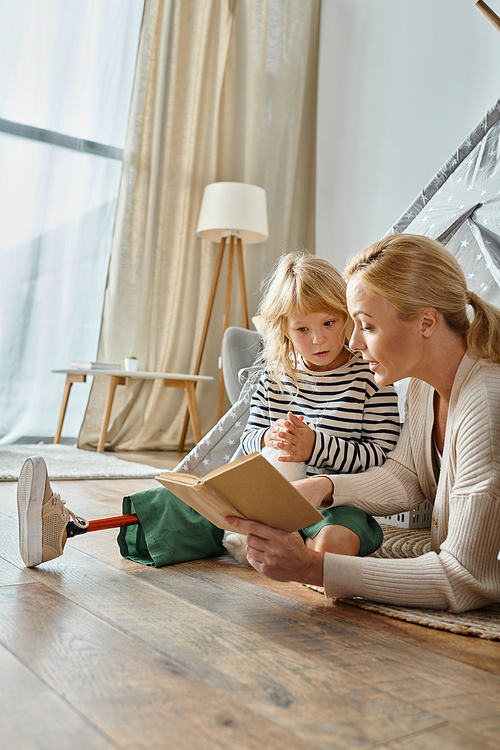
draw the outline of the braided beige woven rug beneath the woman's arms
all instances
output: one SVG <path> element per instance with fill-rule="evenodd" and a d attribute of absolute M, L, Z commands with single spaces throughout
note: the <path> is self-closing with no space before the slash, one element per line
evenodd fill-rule
<path fill-rule="evenodd" d="M 372 557 L 417 557 L 428 552 L 430 548 L 429 529 L 409 530 L 385 524 L 381 524 L 381 526 L 384 532 L 384 541 Z M 320 593 L 325 591 L 320 586 L 309 586 L 309 588 Z M 500 603 L 454 615 L 450 612 L 435 609 L 416 609 L 414 607 L 380 604 L 368 599 L 340 599 L 339 601 L 379 615 L 393 617 L 396 620 L 424 625 L 427 628 L 448 630 L 460 635 L 470 635 L 493 641 L 500 640 Z"/>

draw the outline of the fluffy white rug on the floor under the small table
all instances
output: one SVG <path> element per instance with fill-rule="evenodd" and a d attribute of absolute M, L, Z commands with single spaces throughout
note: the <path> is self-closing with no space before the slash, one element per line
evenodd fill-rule
<path fill-rule="evenodd" d="M 150 479 L 165 470 L 123 461 L 109 453 L 83 451 L 72 445 L 0 445 L 0 482 L 17 482 L 25 460 L 42 456 L 51 479 Z"/>

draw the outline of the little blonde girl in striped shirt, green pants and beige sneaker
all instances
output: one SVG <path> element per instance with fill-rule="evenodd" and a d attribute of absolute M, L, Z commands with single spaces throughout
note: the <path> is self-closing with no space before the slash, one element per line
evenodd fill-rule
<path fill-rule="evenodd" d="M 392 386 L 379 388 L 359 355 L 347 349 L 352 324 L 345 283 L 333 266 L 291 254 L 279 263 L 262 303 L 268 326 L 267 369 L 252 400 L 242 438 L 246 453 L 263 445 L 283 449 L 285 461 L 305 461 L 309 473 L 363 471 L 383 463 L 397 441 L 399 417 Z M 86 522 L 54 494 L 45 463 L 28 459 L 18 484 L 21 555 L 28 566 L 62 554 L 70 517 Z M 123 500 L 136 515 L 122 525 L 126 558 L 156 567 L 225 552 L 224 532 L 163 486 Z M 78 530 L 76 533 L 78 533 Z M 376 521 L 357 508 L 335 508 L 303 531 L 308 546 L 367 555 L 382 541 Z"/>

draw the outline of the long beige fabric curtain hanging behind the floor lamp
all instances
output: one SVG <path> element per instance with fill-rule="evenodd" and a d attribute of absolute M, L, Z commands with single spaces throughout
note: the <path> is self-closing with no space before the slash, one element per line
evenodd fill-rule
<path fill-rule="evenodd" d="M 218 249 L 196 237 L 206 184 L 266 190 L 269 239 L 244 248 L 250 315 L 278 255 L 314 249 L 319 14 L 319 0 L 146 0 L 99 360 L 193 371 Z M 201 369 L 215 380 L 197 386 L 203 432 L 216 421 L 224 280 L 225 266 Z M 237 279 L 233 292 L 241 325 Z M 80 447 L 97 443 L 107 385 L 95 378 Z M 128 381 L 108 447 L 175 448 L 185 409 L 181 390 Z"/>

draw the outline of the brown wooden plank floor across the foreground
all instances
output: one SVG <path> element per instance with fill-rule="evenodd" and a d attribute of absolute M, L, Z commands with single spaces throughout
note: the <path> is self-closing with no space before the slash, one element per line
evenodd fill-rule
<path fill-rule="evenodd" d="M 87 518 L 154 485 L 53 483 Z M 15 494 L 0 483 L 2 750 L 500 747 L 500 644 L 333 603 L 225 556 L 144 567 L 120 557 L 115 531 L 27 570 Z"/>

